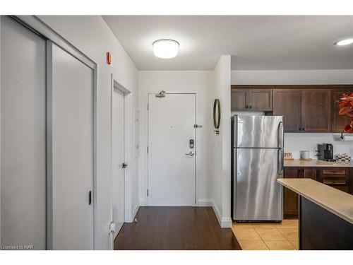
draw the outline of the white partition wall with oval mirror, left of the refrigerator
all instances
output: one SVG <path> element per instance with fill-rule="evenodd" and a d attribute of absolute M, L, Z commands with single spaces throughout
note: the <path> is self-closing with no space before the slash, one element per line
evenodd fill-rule
<path fill-rule="evenodd" d="M 231 227 L 231 108 L 230 85 L 231 73 L 230 56 L 220 58 L 215 67 L 215 84 L 210 100 L 220 99 L 221 122 L 220 134 L 215 134 L 213 124 L 208 128 L 208 144 L 212 152 L 208 155 L 208 172 L 210 195 L 213 208 L 222 227 Z"/>

